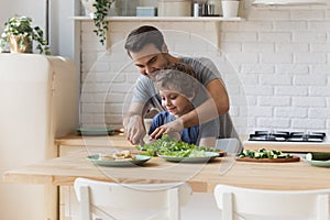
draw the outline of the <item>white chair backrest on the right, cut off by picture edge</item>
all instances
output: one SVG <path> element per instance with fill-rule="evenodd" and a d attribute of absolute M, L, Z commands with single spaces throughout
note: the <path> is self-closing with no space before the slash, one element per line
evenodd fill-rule
<path fill-rule="evenodd" d="M 330 188 L 262 190 L 217 185 L 215 197 L 223 220 L 330 220 Z"/>

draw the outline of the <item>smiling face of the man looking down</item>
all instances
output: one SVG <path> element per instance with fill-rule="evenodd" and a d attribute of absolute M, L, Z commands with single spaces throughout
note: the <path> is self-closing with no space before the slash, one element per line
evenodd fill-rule
<path fill-rule="evenodd" d="M 130 52 L 140 73 L 147 77 L 152 77 L 152 73 L 168 65 L 166 54 L 157 50 L 154 44 L 145 45 L 140 52 Z"/>

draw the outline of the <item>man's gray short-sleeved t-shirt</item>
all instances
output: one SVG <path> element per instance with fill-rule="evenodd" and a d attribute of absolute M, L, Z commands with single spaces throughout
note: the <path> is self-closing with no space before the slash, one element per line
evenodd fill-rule
<path fill-rule="evenodd" d="M 207 86 L 213 79 L 221 79 L 221 75 L 217 69 L 216 65 L 206 57 L 180 57 L 183 63 L 190 65 L 196 74 L 197 79 L 204 85 Z M 161 111 L 164 111 L 162 107 L 162 101 L 158 92 L 156 91 L 153 81 L 146 77 L 141 75 L 135 84 L 134 92 L 133 92 L 133 102 L 140 102 L 143 105 L 148 105 L 150 107 L 157 108 Z M 194 100 L 193 100 L 194 102 Z M 195 103 L 200 105 L 201 101 L 197 100 Z M 197 105 L 197 106 L 198 106 Z M 219 117 L 220 131 L 219 138 L 238 138 L 238 133 L 233 128 L 231 118 L 229 113 L 224 113 Z"/>

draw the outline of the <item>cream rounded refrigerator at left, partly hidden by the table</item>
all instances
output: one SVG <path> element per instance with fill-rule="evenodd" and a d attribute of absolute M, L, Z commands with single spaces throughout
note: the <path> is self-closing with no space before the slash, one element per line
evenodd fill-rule
<path fill-rule="evenodd" d="M 0 54 L 0 175 L 53 158 L 54 139 L 78 124 L 78 80 L 72 61 L 37 54 Z M 0 179 L 0 219 L 55 220 L 56 187 Z"/>

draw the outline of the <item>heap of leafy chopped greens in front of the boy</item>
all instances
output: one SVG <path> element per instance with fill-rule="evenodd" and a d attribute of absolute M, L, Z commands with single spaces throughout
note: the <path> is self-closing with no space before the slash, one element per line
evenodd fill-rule
<path fill-rule="evenodd" d="M 164 134 L 153 143 L 146 143 L 143 146 L 136 146 L 139 151 L 145 152 L 145 155 L 174 156 L 174 157 L 204 157 L 206 152 L 219 152 L 215 147 L 198 146 L 186 142 L 177 142 Z"/>

